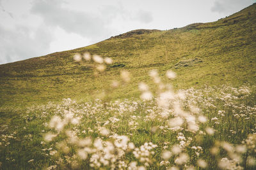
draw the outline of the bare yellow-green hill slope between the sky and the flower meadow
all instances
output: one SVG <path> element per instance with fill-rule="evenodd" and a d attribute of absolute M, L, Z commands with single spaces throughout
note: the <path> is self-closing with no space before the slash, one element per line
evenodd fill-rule
<path fill-rule="evenodd" d="M 102 89 L 113 98 L 138 97 L 139 81 L 148 81 L 150 69 L 177 73 L 175 87 L 255 84 L 256 4 L 230 17 L 191 24 L 169 31 L 137 30 L 95 45 L 0 65 L 0 105 L 31 105 L 63 98 L 90 99 Z M 114 64 L 93 76 L 88 64 L 77 64 L 75 53 L 111 57 Z M 125 89 L 109 87 L 120 70 L 132 74 Z M 104 82 L 104 83 L 102 83 Z"/>

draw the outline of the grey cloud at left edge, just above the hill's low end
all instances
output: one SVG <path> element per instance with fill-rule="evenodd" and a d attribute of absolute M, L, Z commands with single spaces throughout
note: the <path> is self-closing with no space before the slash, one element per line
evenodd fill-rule
<path fill-rule="evenodd" d="M 31 29 L 16 25 L 14 29 L 6 29 L 0 25 L 0 63 L 44 55 L 49 50 L 52 34 L 43 27 Z"/>

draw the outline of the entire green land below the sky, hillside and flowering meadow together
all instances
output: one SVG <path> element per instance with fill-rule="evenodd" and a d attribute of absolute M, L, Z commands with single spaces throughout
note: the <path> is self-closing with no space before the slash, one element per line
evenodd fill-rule
<path fill-rule="evenodd" d="M 0 65 L 0 167 L 255 169 L 255 11 Z"/>

